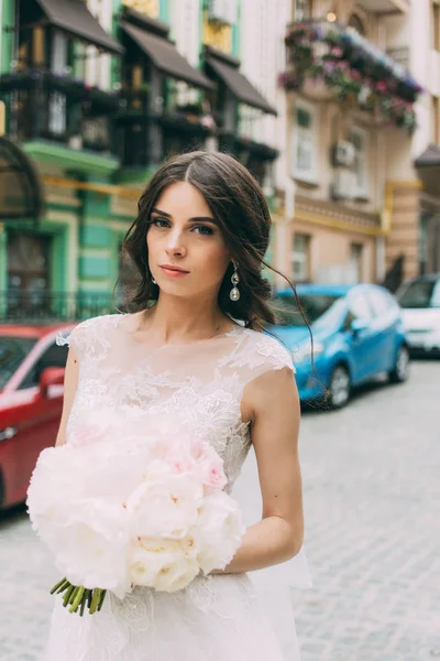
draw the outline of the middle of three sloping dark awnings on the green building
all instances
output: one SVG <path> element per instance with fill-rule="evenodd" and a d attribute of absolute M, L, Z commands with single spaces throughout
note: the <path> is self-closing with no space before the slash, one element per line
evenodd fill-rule
<path fill-rule="evenodd" d="M 121 21 L 121 28 L 151 58 L 158 71 L 194 87 L 215 89 L 213 83 L 205 74 L 194 68 L 168 39 L 142 30 L 127 21 Z"/>

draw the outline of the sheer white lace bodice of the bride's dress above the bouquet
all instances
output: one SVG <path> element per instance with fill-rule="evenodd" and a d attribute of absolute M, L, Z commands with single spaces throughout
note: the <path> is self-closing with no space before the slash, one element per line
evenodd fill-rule
<path fill-rule="evenodd" d="M 211 339 L 148 348 L 135 339 L 132 315 L 105 315 L 78 324 L 58 344 L 70 344 L 79 360 L 79 381 L 67 423 L 97 411 L 123 423 L 165 414 L 211 443 L 223 459 L 227 490 L 240 474 L 251 445 L 243 422 L 244 388 L 268 370 L 289 367 L 289 353 L 273 337 L 237 325 Z"/>

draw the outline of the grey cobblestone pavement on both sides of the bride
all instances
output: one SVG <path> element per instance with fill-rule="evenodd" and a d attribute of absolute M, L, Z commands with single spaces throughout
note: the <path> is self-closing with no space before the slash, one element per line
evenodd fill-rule
<path fill-rule="evenodd" d="M 413 370 L 304 415 L 301 661 L 440 659 L 440 364 Z M 0 661 L 38 661 L 57 578 L 24 508 L 0 517 Z"/>

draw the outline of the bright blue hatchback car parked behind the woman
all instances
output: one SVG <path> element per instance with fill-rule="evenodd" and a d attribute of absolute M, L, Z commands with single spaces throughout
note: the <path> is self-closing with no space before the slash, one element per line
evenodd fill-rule
<path fill-rule="evenodd" d="M 382 286 L 356 284 L 298 285 L 300 305 L 292 291 L 278 292 L 274 308 L 279 324 L 268 330 L 293 351 L 301 401 L 324 400 L 332 409 L 346 404 L 354 387 L 380 373 L 392 382 L 408 378 L 409 349 L 402 311 Z"/>

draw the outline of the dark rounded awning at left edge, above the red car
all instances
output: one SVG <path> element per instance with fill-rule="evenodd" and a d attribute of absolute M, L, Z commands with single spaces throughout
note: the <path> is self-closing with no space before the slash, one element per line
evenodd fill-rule
<path fill-rule="evenodd" d="M 0 138 L 0 220 L 34 220 L 43 210 L 43 189 L 29 156 Z"/>

